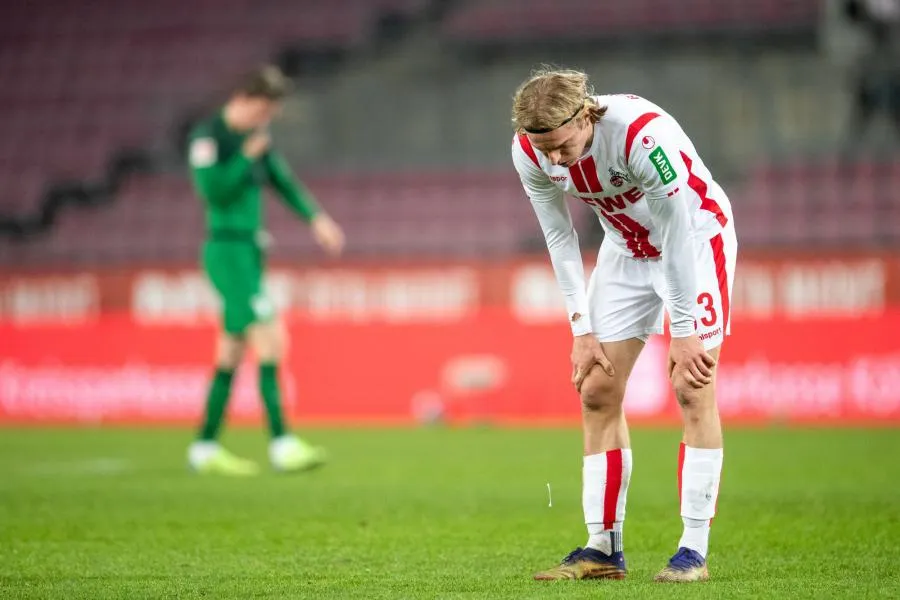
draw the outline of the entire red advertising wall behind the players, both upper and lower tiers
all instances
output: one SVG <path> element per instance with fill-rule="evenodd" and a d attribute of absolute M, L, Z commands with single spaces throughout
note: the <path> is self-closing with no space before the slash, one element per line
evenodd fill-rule
<path fill-rule="evenodd" d="M 217 312 L 196 268 L 0 275 L 0 422 L 196 418 Z M 282 377 L 297 419 L 578 419 L 544 257 L 281 265 L 268 288 L 293 339 Z M 732 306 L 726 421 L 900 424 L 900 258 L 743 253 Z M 665 354 L 662 338 L 644 350 L 632 421 L 678 419 Z M 231 416 L 259 418 L 252 367 Z"/>

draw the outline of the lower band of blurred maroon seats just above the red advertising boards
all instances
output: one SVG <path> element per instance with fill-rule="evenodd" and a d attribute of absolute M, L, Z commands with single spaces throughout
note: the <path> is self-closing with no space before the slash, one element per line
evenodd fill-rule
<path fill-rule="evenodd" d="M 539 248 L 540 231 L 509 171 L 332 174 L 309 186 L 345 226 L 352 257 L 490 258 Z M 745 247 L 881 245 L 896 239 L 900 162 L 838 159 L 762 164 L 726 184 Z M 570 203 L 578 229 L 594 227 Z M 306 229 L 281 204 L 266 206 L 273 257 L 314 259 Z M 196 260 L 203 213 L 183 175 L 132 178 L 116 202 L 65 212 L 46 236 L 0 239 L 0 263 L 176 263 Z"/>

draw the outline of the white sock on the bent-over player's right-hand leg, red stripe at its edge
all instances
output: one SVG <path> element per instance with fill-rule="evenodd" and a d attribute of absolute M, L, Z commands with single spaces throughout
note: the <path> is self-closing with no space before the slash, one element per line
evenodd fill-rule
<path fill-rule="evenodd" d="M 678 547 L 690 548 L 704 558 L 719 498 L 722 458 L 721 448 L 691 448 L 682 443 L 678 452 L 678 498 L 684 523 Z"/>

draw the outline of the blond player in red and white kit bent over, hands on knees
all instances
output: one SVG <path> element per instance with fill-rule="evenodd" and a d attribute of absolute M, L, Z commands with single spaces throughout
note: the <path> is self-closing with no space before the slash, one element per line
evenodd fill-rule
<path fill-rule="evenodd" d="M 737 254 L 728 198 L 671 115 L 637 96 L 596 96 L 584 73 L 534 73 L 516 91 L 512 113 L 513 162 L 565 296 L 584 433 L 587 543 L 535 579 L 625 577 L 632 455 L 622 401 L 645 342 L 663 332 L 665 310 L 668 373 L 684 421 L 684 532 L 656 579 L 705 580 L 722 469 L 716 362 Z M 605 234 L 587 285 L 565 194 L 588 204 Z"/>

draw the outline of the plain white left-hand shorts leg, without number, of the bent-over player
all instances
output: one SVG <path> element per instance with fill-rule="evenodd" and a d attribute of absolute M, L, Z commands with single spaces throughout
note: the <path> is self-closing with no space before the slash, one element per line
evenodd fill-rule
<path fill-rule="evenodd" d="M 594 334 L 601 342 L 639 339 L 663 331 L 662 299 L 653 285 L 653 263 L 623 256 L 604 244 L 588 285 Z"/>

